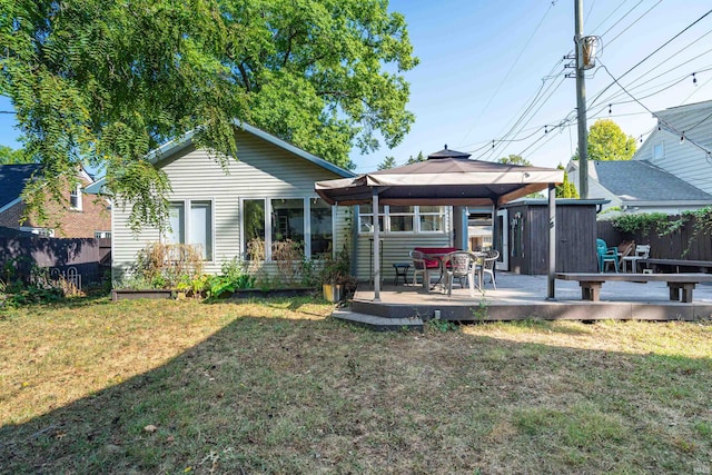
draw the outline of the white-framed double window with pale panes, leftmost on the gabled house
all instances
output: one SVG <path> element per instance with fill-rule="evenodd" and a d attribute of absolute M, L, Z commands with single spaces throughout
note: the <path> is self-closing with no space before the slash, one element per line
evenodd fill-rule
<path fill-rule="evenodd" d="M 188 216 L 186 216 L 186 209 L 189 210 Z M 166 231 L 166 243 L 196 246 L 202 253 L 205 260 L 212 260 L 211 201 L 171 202 L 168 219 L 170 229 Z"/>

